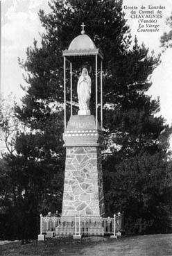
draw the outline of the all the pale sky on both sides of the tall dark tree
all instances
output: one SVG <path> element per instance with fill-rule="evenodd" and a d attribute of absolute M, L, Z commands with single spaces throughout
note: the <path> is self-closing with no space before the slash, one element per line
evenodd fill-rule
<path fill-rule="evenodd" d="M 132 6 L 165 6 L 160 20 L 160 31 L 157 33 L 139 33 L 137 32 L 138 19 L 130 18 L 130 8 Z M 160 53 L 160 37 L 164 31 L 169 31 L 165 24 L 166 17 L 172 12 L 171 0 L 123 0 L 126 18 L 131 28 L 132 38 L 137 35 L 141 44 L 144 42 L 155 53 Z M 22 73 L 24 72 L 18 65 L 17 58 L 26 58 L 26 48 L 33 45 L 35 38 L 40 42 L 39 33 L 44 32 L 40 24 L 37 12 L 43 9 L 49 12 L 47 0 L 2 0 L 1 1 L 1 93 L 4 95 L 12 92 L 17 99 L 24 96 L 20 84 L 25 85 Z M 172 49 L 162 54 L 162 63 L 152 75 L 153 85 L 148 91 L 153 98 L 160 96 L 162 116 L 167 123 L 172 123 Z"/>

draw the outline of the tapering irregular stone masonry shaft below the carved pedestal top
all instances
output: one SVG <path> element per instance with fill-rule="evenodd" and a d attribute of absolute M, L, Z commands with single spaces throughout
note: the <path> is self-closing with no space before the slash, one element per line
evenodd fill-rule
<path fill-rule="evenodd" d="M 101 148 L 67 147 L 62 216 L 104 215 Z"/>

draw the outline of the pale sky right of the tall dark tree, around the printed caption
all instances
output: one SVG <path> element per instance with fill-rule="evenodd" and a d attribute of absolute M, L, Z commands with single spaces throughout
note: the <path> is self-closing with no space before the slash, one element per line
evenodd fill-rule
<path fill-rule="evenodd" d="M 134 38 L 137 35 L 137 40 L 141 44 L 149 47 L 150 52 L 153 50 L 155 54 L 162 53 L 160 47 L 160 37 L 164 32 L 169 32 L 169 26 L 166 26 L 166 17 L 169 17 L 172 13 L 172 0 L 123 0 L 124 6 L 132 7 L 145 6 L 145 10 L 148 11 L 148 6 L 164 6 L 162 10 L 162 19 L 158 23 L 160 25 L 160 31 L 156 33 L 141 33 L 137 32 L 138 20 L 130 17 L 130 9 L 125 9 L 126 18 L 131 28 L 131 35 Z M 152 10 L 152 9 L 150 9 Z M 157 99 L 160 96 L 160 114 L 166 119 L 166 123 L 171 125 L 172 123 L 172 49 L 169 49 L 162 53 L 161 64 L 153 71 L 151 76 L 152 86 L 148 90 L 148 95 L 153 96 L 153 99 Z M 159 115 L 160 115 L 159 114 Z"/>

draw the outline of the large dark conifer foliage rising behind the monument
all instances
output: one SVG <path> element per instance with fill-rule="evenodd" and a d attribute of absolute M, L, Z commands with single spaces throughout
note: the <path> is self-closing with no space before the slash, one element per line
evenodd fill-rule
<path fill-rule="evenodd" d="M 150 74 L 160 63 L 160 56 L 149 53 L 144 44 L 139 46 L 137 38 L 130 48 L 130 30 L 122 12 L 122 1 L 53 0 L 49 6 L 49 14 L 43 10 L 39 12 L 46 29 L 42 46 L 38 48 L 34 40 L 34 45 L 26 51 L 26 60 L 19 60 L 28 74 L 25 78 L 28 88 L 22 107 L 18 106 L 15 114 L 28 130 L 17 137 L 17 158 L 8 158 L 11 168 L 18 173 L 18 196 L 25 191 L 30 213 L 31 209 L 35 214 L 44 213 L 48 210 L 47 205 L 51 211 L 60 209 L 65 169 L 62 50 L 80 34 L 79 25 L 85 22 L 87 34 L 103 49 L 105 56 L 105 210 L 110 215 L 119 210 L 126 211 L 127 225 L 132 219 L 135 223 L 146 221 L 149 230 L 155 228 L 157 215 L 151 214 L 151 205 L 154 203 L 154 210 L 160 207 L 163 190 L 158 188 L 160 180 L 164 187 L 167 186 L 166 147 L 163 145 L 168 144 L 169 127 L 162 117 L 154 117 L 160 110 L 159 101 L 151 100 L 144 92 L 151 85 Z M 80 62 L 76 62 L 74 84 L 78 67 Z M 92 113 L 94 95 L 92 87 Z M 161 142 L 163 134 L 164 144 Z"/>

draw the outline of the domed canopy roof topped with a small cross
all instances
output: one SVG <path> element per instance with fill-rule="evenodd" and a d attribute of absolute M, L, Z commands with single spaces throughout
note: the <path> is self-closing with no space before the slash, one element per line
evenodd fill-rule
<path fill-rule="evenodd" d="M 83 30 L 81 35 L 78 35 L 71 41 L 69 48 L 65 51 L 62 51 L 63 57 L 71 56 L 99 56 L 103 60 L 103 53 L 100 49 L 96 48 L 94 42 L 88 35 L 85 35 L 84 26 L 82 25 Z"/>

